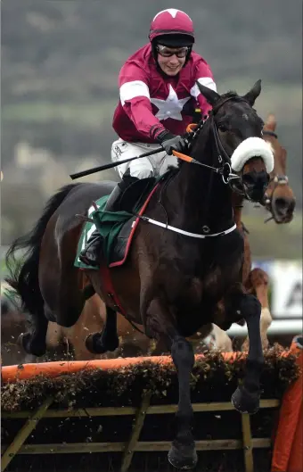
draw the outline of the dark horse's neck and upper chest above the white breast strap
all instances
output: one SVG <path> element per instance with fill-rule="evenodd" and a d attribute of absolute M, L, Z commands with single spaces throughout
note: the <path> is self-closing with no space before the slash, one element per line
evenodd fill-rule
<path fill-rule="evenodd" d="M 202 136 L 198 138 L 200 143 L 195 146 L 192 157 L 201 160 L 203 156 L 203 163 L 218 167 L 210 128 L 203 129 L 201 133 L 204 139 Z M 211 232 L 217 232 L 233 222 L 232 192 L 229 186 L 213 170 L 198 164 L 182 163 L 178 175 L 169 185 L 168 198 L 174 208 L 174 219 L 188 231 L 201 233 L 201 227 L 208 225 Z"/>

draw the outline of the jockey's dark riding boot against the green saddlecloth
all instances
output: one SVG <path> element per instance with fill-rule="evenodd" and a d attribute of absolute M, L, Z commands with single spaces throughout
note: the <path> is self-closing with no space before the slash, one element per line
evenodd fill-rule
<path fill-rule="evenodd" d="M 119 202 L 119 197 L 125 192 L 127 186 L 134 183 L 135 180 L 137 180 L 137 178 L 132 178 L 131 176 L 123 178 L 111 192 L 111 195 L 109 196 L 103 211 L 115 211 L 115 206 Z M 98 229 L 95 229 L 94 233 L 88 239 L 86 247 L 79 254 L 79 259 L 80 261 L 85 262 L 87 265 L 96 267 L 99 265 L 101 253 L 102 236 Z"/>

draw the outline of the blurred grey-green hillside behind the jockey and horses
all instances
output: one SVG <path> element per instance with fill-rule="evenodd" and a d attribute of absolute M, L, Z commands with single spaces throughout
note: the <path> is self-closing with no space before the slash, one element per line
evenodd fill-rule
<path fill-rule="evenodd" d="M 255 257 L 301 258 L 301 0 L 3 0 L 2 244 L 31 228 L 71 172 L 110 161 L 119 69 L 169 7 L 192 17 L 195 50 L 211 64 L 219 92 L 245 93 L 262 79 L 257 109 L 276 115 L 298 210 L 278 227 L 249 205 L 245 222 Z M 101 178 L 117 174 L 86 180 Z"/>

